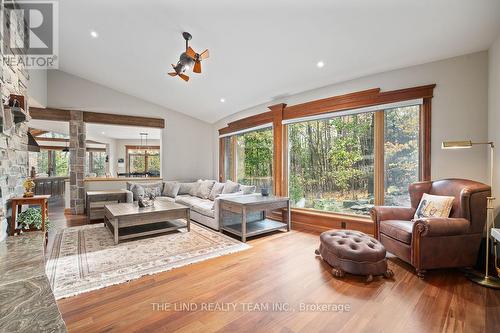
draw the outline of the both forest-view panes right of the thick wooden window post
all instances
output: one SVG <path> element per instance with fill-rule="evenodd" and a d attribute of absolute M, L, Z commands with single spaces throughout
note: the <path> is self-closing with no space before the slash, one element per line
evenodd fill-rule
<path fill-rule="evenodd" d="M 290 123 L 292 206 L 365 216 L 375 204 L 408 206 L 408 185 L 420 175 L 420 108 Z"/>

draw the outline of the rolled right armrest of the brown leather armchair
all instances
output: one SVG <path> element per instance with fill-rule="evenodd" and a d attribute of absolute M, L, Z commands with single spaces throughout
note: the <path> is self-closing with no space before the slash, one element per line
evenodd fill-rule
<path fill-rule="evenodd" d="M 414 234 L 424 237 L 455 236 L 468 232 L 470 222 L 464 218 L 433 217 L 416 220 L 413 224 Z M 415 230 L 418 232 L 415 233 Z"/>

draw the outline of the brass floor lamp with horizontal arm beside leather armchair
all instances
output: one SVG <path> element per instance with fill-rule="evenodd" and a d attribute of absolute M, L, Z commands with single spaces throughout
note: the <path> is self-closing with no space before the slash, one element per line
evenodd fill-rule
<path fill-rule="evenodd" d="M 500 289 L 500 279 L 490 276 L 489 274 L 489 257 L 490 257 L 490 232 L 491 228 L 495 226 L 495 217 L 494 210 L 495 207 L 493 203 L 495 202 L 495 197 L 493 194 L 493 174 L 494 174 L 494 162 L 495 162 L 495 144 L 493 142 L 472 142 L 472 141 L 444 141 L 442 143 L 442 149 L 463 149 L 463 148 L 472 148 L 472 146 L 476 145 L 488 145 L 490 146 L 490 157 L 491 157 L 491 165 L 490 165 L 490 186 L 491 186 L 491 196 L 488 197 L 487 204 L 487 220 L 486 220 L 486 271 L 485 274 L 478 273 L 467 273 L 466 276 L 469 280 L 480 284 L 485 287 Z M 496 241 L 493 243 L 493 249 L 495 252 L 495 268 L 497 272 L 499 272 L 499 268 L 497 266 L 496 253 L 497 246 Z"/>

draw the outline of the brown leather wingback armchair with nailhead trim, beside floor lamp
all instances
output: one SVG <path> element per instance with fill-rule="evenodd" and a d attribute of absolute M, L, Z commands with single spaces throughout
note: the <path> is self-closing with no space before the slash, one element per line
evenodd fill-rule
<path fill-rule="evenodd" d="M 374 235 L 387 251 L 415 267 L 421 278 L 428 269 L 474 265 L 491 188 L 471 180 L 443 179 L 411 184 L 409 192 L 411 207 L 372 210 Z M 424 193 L 454 196 L 450 217 L 413 221 Z"/>

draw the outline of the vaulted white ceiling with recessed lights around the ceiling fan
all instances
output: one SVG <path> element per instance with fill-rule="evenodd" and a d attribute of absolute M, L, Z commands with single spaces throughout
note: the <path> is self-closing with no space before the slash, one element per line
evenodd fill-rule
<path fill-rule="evenodd" d="M 188 83 L 166 74 L 182 31 L 210 50 Z M 60 69 L 214 123 L 280 96 L 486 50 L 499 32 L 498 0 L 64 0 Z"/>

